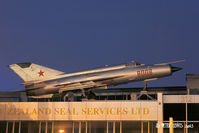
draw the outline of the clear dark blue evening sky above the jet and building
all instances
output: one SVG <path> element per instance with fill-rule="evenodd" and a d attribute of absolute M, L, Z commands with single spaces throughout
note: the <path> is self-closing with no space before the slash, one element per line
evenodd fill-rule
<path fill-rule="evenodd" d="M 186 59 L 176 64 L 182 71 L 149 83 L 185 85 L 186 73 L 199 68 L 198 5 L 188 0 L 1 1 L 0 90 L 23 88 L 7 65 L 27 61 L 69 73 L 131 60 Z"/>

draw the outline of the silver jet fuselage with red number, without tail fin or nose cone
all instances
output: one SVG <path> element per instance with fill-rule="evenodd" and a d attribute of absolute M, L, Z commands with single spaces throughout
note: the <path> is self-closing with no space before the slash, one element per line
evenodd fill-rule
<path fill-rule="evenodd" d="M 106 89 L 108 86 L 161 78 L 171 74 L 172 67 L 170 65 L 125 66 L 114 70 L 93 71 L 92 73 L 64 74 L 61 77 L 26 85 L 25 87 L 28 95 L 44 95 L 60 93 L 60 90 Z M 78 86 L 78 83 L 84 84 L 86 82 L 94 82 L 96 85 L 94 84 L 91 87 Z"/>

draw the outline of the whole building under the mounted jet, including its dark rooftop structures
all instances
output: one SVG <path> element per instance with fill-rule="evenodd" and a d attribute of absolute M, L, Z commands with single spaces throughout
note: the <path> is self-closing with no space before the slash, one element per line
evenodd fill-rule
<path fill-rule="evenodd" d="M 199 132 L 198 75 L 187 86 L 96 90 L 96 100 L 74 94 L 51 99 L 0 93 L 2 133 L 175 133 Z"/>

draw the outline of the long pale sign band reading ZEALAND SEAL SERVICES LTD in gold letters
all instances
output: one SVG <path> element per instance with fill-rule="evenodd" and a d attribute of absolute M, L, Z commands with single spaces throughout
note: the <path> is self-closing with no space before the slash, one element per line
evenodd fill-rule
<path fill-rule="evenodd" d="M 158 102 L 2 102 L 0 120 L 158 120 Z"/>

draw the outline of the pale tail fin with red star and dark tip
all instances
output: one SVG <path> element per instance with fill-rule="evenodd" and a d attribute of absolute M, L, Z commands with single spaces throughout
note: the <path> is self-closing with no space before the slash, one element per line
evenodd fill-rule
<path fill-rule="evenodd" d="M 25 82 L 47 80 L 64 73 L 30 62 L 12 64 L 9 67 Z"/>

